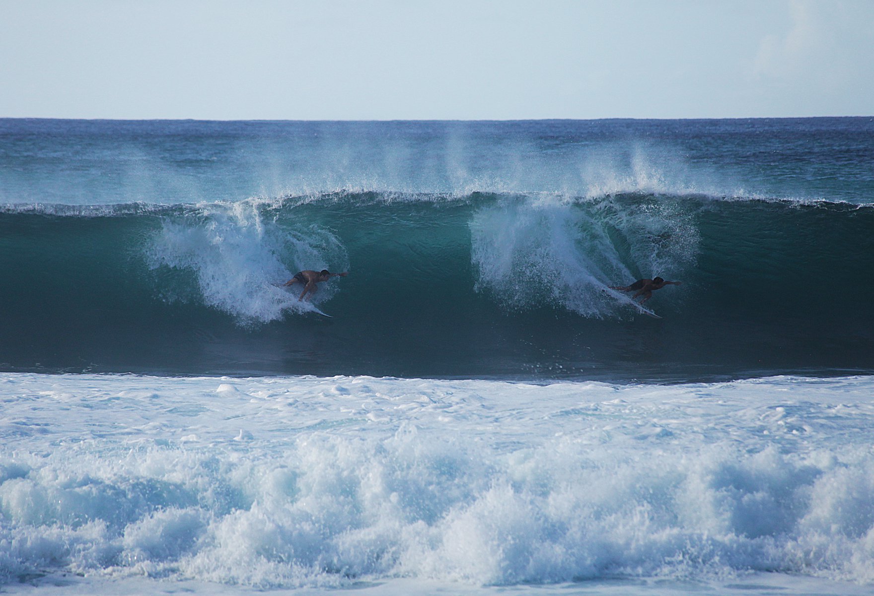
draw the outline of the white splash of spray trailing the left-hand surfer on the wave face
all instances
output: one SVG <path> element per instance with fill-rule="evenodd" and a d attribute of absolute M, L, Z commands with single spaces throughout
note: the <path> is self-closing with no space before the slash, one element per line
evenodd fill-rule
<path fill-rule="evenodd" d="M 147 255 L 149 267 L 171 267 L 195 275 L 200 299 L 240 324 L 278 320 L 283 311 L 304 308 L 275 284 L 302 268 L 348 264 L 345 249 L 317 225 L 282 228 L 263 217 L 259 201 L 202 204 L 164 218 Z M 317 300 L 333 293 L 326 288 Z"/>

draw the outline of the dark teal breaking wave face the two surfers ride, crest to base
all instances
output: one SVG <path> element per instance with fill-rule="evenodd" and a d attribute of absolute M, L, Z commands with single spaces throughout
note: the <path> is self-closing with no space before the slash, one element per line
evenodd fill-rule
<path fill-rule="evenodd" d="M 621 362 L 871 370 L 872 229 L 870 205 L 641 192 L 9 205 L 0 364 L 461 377 L 524 376 L 538 360 L 584 377 Z M 315 296 L 335 320 L 278 287 L 306 268 L 350 271 Z M 649 301 L 660 322 L 608 289 L 655 275 L 683 281 Z M 272 355 L 252 355 L 255 343 Z"/>

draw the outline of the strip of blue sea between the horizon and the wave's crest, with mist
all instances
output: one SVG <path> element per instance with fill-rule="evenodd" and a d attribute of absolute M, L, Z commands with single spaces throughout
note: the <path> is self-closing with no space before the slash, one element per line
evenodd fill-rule
<path fill-rule="evenodd" d="M 376 191 L 618 192 L 871 204 L 869 118 L 211 122 L 0 119 L 5 204 Z"/>

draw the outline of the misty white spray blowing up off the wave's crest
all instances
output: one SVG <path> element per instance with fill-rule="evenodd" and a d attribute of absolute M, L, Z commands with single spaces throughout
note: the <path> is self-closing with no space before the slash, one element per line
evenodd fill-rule
<path fill-rule="evenodd" d="M 597 142 L 586 135 L 557 132 L 538 138 L 515 129 L 496 134 L 488 124 L 462 122 L 417 127 L 397 122 L 389 128 L 391 132 L 376 131 L 363 123 L 348 123 L 343 135 L 317 129 L 309 136 L 250 142 L 242 153 L 264 156 L 246 167 L 253 180 L 262 181 L 261 192 L 268 194 L 271 189 L 291 195 L 349 189 L 594 197 L 623 191 L 706 190 L 718 179 L 700 163 L 692 168 L 682 148 L 633 136 Z M 717 187 L 733 188 L 733 183 Z"/>

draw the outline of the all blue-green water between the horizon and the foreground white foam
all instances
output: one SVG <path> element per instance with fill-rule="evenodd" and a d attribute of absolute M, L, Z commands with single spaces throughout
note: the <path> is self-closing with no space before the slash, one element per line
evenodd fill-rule
<path fill-rule="evenodd" d="M 0 120 L 0 368 L 871 371 L 872 131 Z M 278 287 L 322 268 L 332 318 Z M 655 275 L 662 319 L 609 289 Z"/>

